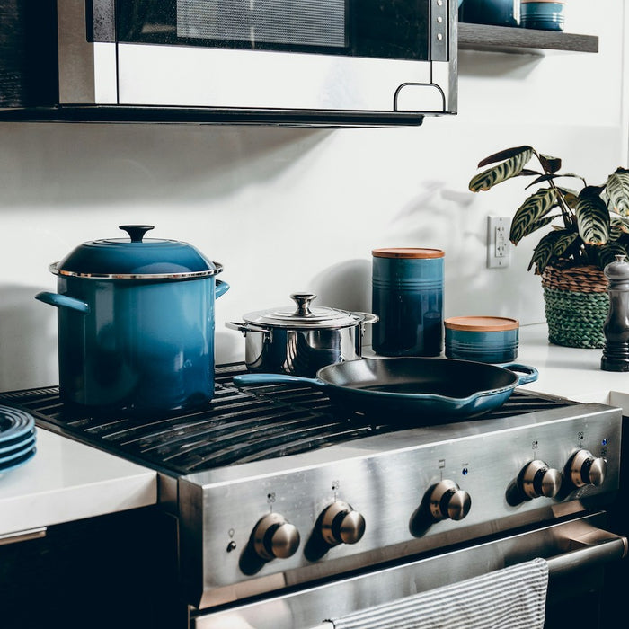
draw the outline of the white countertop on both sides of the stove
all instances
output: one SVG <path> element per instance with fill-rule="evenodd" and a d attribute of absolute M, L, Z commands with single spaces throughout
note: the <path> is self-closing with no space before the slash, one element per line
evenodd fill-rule
<path fill-rule="evenodd" d="M 545 324 L 519 331 L 517 362 L 539 371 L 522 388 L 576 402 L 611 403 L 629 415 L 629 373 L 602 371 L 602 350 L 551 345 Z M 37 453 L 0 475 L 0 536 L 155 504 L 155 471 L 38 428 Z"/>

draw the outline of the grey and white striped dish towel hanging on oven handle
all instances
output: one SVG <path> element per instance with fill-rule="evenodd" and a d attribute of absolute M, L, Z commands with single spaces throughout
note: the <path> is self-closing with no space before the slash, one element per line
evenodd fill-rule
<path fill-rule="evenodd" d="M 543 629 L 544 559 L 332 618 L 334 629 Z"/>

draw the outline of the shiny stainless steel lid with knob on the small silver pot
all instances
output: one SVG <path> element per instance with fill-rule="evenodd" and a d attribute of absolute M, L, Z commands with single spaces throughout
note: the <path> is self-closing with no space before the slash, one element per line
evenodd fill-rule
<path fill-rule="evenodd" d="M 246 323 L 261 327 L 315 329 L 352 327 L 372 316 L 325 306 L 312 307 L 311 302 L 316 298 L 313 293 L 293 293 L 290 298 L 297 304 L 297 308 L 295 306 L 270 308 L 244 314 L 243 319 Z"/>

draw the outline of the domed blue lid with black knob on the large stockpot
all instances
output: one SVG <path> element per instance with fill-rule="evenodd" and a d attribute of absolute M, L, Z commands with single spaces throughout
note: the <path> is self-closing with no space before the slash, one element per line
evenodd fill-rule
<path fill-rule="evenodd" d="M 128 238 L 77 246 L 49 269 L 56 275 L 93 279 L 189 279 L 216 275 L 223 267 L 191 244 L 144 238 L 152 225 L 121 225 Z"/>

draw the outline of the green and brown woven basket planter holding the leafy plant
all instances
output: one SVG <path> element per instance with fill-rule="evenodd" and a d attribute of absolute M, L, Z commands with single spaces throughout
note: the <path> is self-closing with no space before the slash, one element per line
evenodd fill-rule
<path fill-rule="evenodd" d="M 609 311 L 607 278 L 595 266 L 547 266 L 542 273 L 548 341 L 602 348 Z"/>

